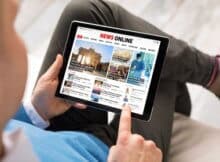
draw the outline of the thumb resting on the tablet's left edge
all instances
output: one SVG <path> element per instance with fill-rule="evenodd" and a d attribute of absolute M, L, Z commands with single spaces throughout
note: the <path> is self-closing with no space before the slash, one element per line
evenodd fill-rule
<path fill-rule="evenodd" d="M 49 67 L 45 76 L 49 79 L 57 79 L 60 69 L 63 65 L 63 56 L 58 54 L 54 63 Z"/>

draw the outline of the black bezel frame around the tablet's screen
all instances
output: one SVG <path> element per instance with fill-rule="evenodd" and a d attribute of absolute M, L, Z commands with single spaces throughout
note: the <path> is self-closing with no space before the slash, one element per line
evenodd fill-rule
<path fill-rule="evenodd" d="M 59 73 L 59 84 L 58 84 L 55 95 L 59 98 L 62 98 L 64 100 L 67 100 L 70 102 L 71 101 L 72 102 L 81 102 L 83 104 L 88 105 L 88 107 L 92 107 L 92 108 L 96 108 L 96 109 L 100 109 L 100 110 L 104 110 L 104 111 L 112 111 L 115 113 L 120 113 L 121 110 L 118 108 L 111 107 L 111 106 L 106 106 L 106 105 L 103 105 L 100 103 L 95 103 L 92 101 L 87 101 L 84 99 L 80 99 L 80 98 L 76 98 L 76 97 L 72 97 L 72 96 L 68 96 L 68 95 L 60 93 L 60 89 L 61 89 L 62 82 L 64 79 L 69 56 L 71 54 L 73 42 L 74 42 L 74 39 L 76 36 L 77 27 L 85 27 L 85 28 L 91 28 L 91 29 L 95 29 L 95 30 L 114 32 L 114 33 L 136 36 L 136 37 L 141 37 L 141 38 L 146 38 L 146 39 L 158 40 L 161 42 L 160 48 L 158 51 L 157 60 L 155 63 L 155 68 L 154 68 L 152 80 L 150 83 L 150 88 L 149 88 L 147 99 L 145 102 L 144 113 L 143 113 L 143 115 L 132 113 L 132 117 L 134 117 L 134 118 L 149 121 L 150 117 L 151 117 L 152 109 L 153 109 L 154 98 L 156 95 L 156 90 L 157 90 L 157 86 L 159 83 L 160 73 L 161 73 L 163 62 L 165 59 L 169 39 L 166 37 L 158 36 L 158 35 L 152 35 L 152 34 L 136 32 L 136 31 L 126 30 L 126 29 L 120 29 L 120 28 L 115 28 L 115 27 L 108 27 L 108 26 L 103 26 L 103 25 L 98 25 L 98 24 L 91 24 L 91 23 L 81 22 L 81 21 L 73 21 L 71 23 L 71 26 L 69 29 L 69 34 L 68 34 L 68 39 L 66 41 L 65 49 L 63 52 L 63 56 L 64 56 L 63 57 L 64 58 L 63 59 L 63 66 L 62 66 L 61 71 Z"/>

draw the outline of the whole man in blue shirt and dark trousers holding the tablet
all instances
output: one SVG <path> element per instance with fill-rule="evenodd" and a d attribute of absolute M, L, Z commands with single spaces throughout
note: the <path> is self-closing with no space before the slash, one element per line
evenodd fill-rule
<path fill-rule="evenodd" d="M 17 111 L 16 107 L 19 106 L 22 98 L 26 80 L 25 48 L 13 28 L 16 6 L 15 0 L 0 0 L 0 130 L 2 132 L 8 120 Z M 3 140 L 0 141 L 2 161 L 68 162 L 108 159 L 109 162 L 160 162 L 161 151 L 154 142 L 147 139 L 156 142 L 163 152 L 163 161 L 167 161 L 174 109 L 180 108 L 178 111 L 189 112 L 185 82 L 207 86 L 219 94 L 217 85 L 220 77 L 216 70 L 218 62 L 215 58 L 168 36 L 171 45 L 151 122 L 144 123 L 133 119 L 131 123 L 130 110 L 125 107 L 120 121 L 119 116 L 116 115 L 108 125 L 106 112 L 85 109 L 85 105 L 80 103 L 75 103 L 70 109 L 71 105 L 54 97 L 57 75 L 62 66 L 62 56 L 57 56 L 57 53 L 61 53 L 64 48 L 68 28 L 73 20 L 168 36 L 113 3 L 100 0 L 72 1 L 64 10 L 54 32 L 31 101 L 21 106 L 14 117 L 15 120 L 10 121 L 6 127 L 5 131 L 16 130 L 19 127 L 22 131 L 4 133 Z M 178 66 L 179 64 L 182 66 Z M 48 128 L 43 130 L 38 127 Z M 111 147 L 110 151 L 108 151 L 109 147 Z"/>

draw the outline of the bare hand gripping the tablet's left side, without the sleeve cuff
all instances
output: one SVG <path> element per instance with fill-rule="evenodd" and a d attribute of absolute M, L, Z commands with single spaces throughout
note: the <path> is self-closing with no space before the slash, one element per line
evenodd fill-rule
<path fill-rule="evenodd" d="M 55 62 L 39 79 L 32 95 L 31 102 L 44 120 L 49 120 L 55 116 L 61 115 L 71 107 L 69 103 L 55 97 L 58 85 L 58 75 L 62 64 L 62 56 L 57 55 Z M 80 103 L 75 103 L 73 106 L 79 109 L 86 108 L 85 105 Z"/>

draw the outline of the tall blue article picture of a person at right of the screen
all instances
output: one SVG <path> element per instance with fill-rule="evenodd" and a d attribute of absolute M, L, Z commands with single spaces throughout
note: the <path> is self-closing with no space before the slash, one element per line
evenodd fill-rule
<path fill-rule="evenodd" d="M 134 52 L 127 83 L 146 85 L 149 81 L 155 55 L 145 52 Z"/>

